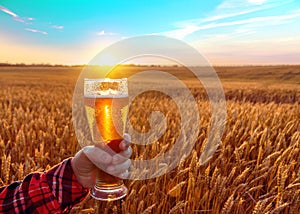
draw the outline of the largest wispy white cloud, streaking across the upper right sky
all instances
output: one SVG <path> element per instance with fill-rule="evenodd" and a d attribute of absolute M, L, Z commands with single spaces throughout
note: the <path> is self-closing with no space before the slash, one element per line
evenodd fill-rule
<path fill-rule="evenodd" d="M 288 15 L 277 16 L 258 16 L 248 17 L 245 15 L 258 11 L 268 10 L 274 7 L 280 7 L 284 4 L 293 2 L 293 0 L 279 1 L 279 0 L 225 0 L 221 3 L 216 10 L 202 19 L 184 20 L 174 23 L 177 28 L 175 30 L 160 32 L 169 37 L 184 39 L 186 36 L 200 30 L 214 29 L 219 27 L 229 26 L 242 26 L 251 25 L 264 26 L 264 25 L 280 25 L 291 22 L 294 18 L 299 17 L 299 10 L 295 10 Z M 233 19 L 234 18 L 234 19 Z M 248 31 L 248 30 L 247 30 Z"/>

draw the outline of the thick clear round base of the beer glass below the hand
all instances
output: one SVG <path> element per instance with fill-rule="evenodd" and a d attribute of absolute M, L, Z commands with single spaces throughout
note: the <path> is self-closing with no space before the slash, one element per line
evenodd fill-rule
<path fill-rule="evenodd" d="M 91 190 L 91 196 L 100 201 L 115 201 L 124 198 L 127 192 L 128 189 L 124 184 L 117 187 L 94 186 Z"/>

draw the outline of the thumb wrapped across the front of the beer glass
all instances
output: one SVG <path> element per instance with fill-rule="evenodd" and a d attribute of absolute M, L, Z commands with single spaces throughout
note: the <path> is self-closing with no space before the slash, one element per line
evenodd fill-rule
<path fill-rule="evenodd" d="M 83 152 L 99 168 L 112 161 L 112 157 L 107 152 L 95 146 L 86 146 Z"/>

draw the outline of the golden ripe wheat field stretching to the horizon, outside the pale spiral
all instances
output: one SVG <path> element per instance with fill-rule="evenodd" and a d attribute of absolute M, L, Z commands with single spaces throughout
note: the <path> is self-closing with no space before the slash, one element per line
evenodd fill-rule
<path fill-rule="evenodd" d="M 47 170 L 80 149 L 71 119 L 81 69 L 0 68 L 0 186 Z M 202 89 L 192 87 L 201 130 L 191 154 L 163 176 L 126 180 L 123 200 L 87 197 L 72 213 L 299 213 L 300 66 L 216 70 L 227 120 L 209 162 L 198 162 L 210 129 L 209 102 Z M 130 109 L 135 128 L 147 128 L 144 114 L 153 103 L 169 116 L 167 133 L 150 148 L 133 144 L 133 158 L 160 155 L 178 136 L 176 109 L 158 94 L 141 97 Z"/>

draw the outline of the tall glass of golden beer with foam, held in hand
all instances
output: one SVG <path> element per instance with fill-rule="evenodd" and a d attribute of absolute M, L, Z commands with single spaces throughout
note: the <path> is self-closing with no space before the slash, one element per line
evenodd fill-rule
<path fill-rule="evenodd" d="M 120 152 L 128 113 L 127 79 L 85 79 L 84 105 L 91 138 L 102 149 L 103 143 Z M 91 196 L 97 200 L 113 201 L 126 196 L 128 190 L 123 180 L 98 169 L 96 185 Z"/>

